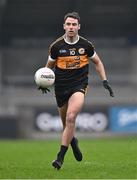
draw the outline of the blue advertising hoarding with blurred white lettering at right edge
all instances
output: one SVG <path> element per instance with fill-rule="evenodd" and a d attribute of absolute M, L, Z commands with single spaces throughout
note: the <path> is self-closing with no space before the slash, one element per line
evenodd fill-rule
<path fill-rule="evenodd" d="M 137 106 L 116 106 L 109 111 L 112 132 L 137 133 Z"/>

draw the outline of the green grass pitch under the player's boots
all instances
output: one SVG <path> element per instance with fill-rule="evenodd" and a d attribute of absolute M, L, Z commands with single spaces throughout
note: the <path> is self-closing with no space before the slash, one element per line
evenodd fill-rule
<path fill-rule="evenodd" d="M 62 169 L 51 166 L 60 140 L 0 140 L 0 179 L 136 179 L 137 137 L 80 139 L 83 161 L 71 148 Z"/>

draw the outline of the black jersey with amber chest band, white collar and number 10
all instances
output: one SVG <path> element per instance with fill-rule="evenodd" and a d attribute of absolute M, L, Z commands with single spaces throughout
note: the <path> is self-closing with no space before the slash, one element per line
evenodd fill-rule
<path fill-rule="evenodd" d="M 55 88 L 88 84 L 89 58 L 94 54 L 93 44 L 81 36 L 73 44 L 66 42 L 64 36 L 53 42 L 49 48 L 49 59 L 56 62 Z"/>

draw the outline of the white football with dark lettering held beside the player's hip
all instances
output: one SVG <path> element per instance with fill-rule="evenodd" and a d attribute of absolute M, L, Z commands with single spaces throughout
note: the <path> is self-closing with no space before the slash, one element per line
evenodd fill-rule
<path fill-rule="evenodd" d="M 47 88 L 54 84 L 55 74 L 50 68 L 43 67 L 36 71 L 34 80 L 37 86 Z"/>

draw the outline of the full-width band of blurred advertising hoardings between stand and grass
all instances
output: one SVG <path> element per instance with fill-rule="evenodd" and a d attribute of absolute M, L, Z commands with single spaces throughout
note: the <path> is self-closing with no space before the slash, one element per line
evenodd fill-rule
<path fill-rule="evenodd" d="M 0 115 L 0 138 L 35 138 L 61 132 L 62 124 L 54 106 L 20 107 L 16 115 Z M 77 117 L 78 132 L 137 133 L 136 106 L 84 107 Z"/>

